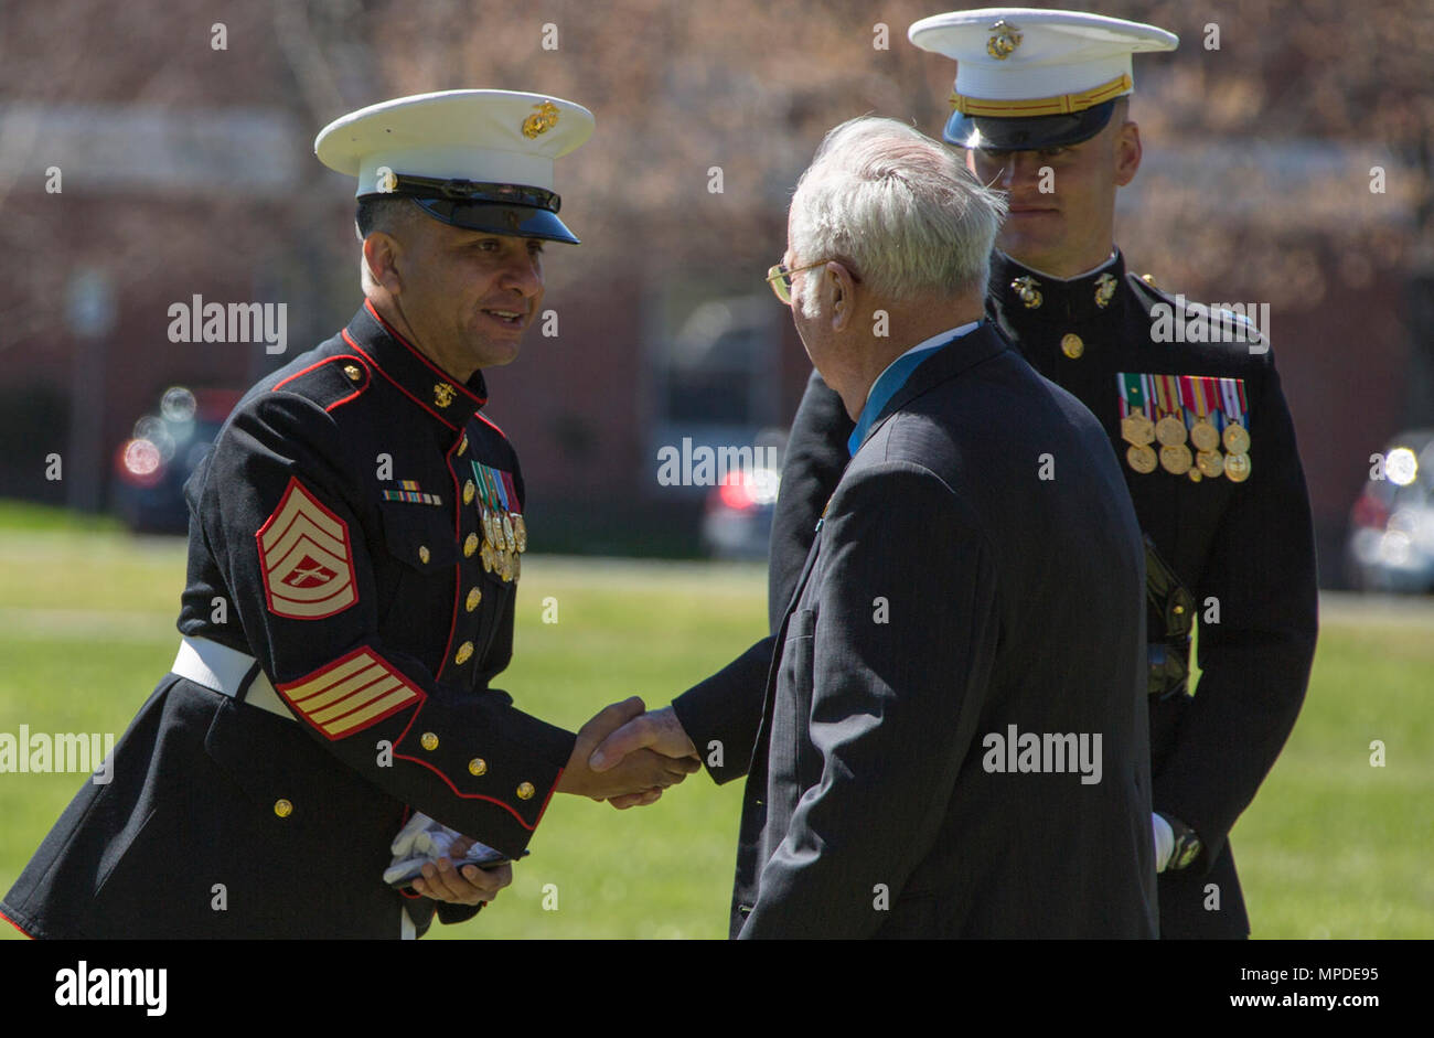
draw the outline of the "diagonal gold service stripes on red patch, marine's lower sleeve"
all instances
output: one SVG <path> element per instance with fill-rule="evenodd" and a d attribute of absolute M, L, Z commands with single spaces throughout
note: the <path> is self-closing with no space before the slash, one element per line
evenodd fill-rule
<path fill-rule="evenodd" d="M 363 731 L 423 698 L 387 660 L 364 647 L 277 688 L 295 714 L 330 740 Z"/>

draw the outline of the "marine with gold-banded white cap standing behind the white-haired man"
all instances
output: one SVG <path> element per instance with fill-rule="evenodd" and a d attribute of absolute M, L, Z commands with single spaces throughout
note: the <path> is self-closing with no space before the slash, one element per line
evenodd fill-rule
<path fill-rule="evenodd" d="M 1314 533 L 1268 328 L 1256 334 L 1246 321 L 1182 305 L 1149 275 L 1127 272 L 1114 247 L 1116 191 L 1134 178 L 1141 155 L 1140 130 L 1127 118 L 1131 54 L 1173 50 L 1177 39 L 1120 19 L 1028 9 L 938 14 L 909 36 L 956 59 L 945 139 L 968 149 L 982 184 L 1008 192 L 987 313 L 1037 370 L 1100 419 L 1153 545 L 1146 571 L 1160 935 L 1246 936 L 1226 837 L 1304 701 L 1318 625 Z M 813 373 L 773 519 L 773 629 L 846 465 L 850 432 L 840 399 Z M 1192 697 L 1197 612 L 1202 674 Z M 764 668 L 761 654 L 749 652 L 680 697 L 675 714 L 652 711 L 621 728 L 599 763 L 637 746 L 685 746 L 684 730 L 698 747 L 744 738 Z M 736 777 L 731 767 L 708 768 L 717 781 Z"/>

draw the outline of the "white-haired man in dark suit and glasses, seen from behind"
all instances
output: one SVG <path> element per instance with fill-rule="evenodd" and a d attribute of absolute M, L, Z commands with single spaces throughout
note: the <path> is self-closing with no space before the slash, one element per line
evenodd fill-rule
<path fill-rule="evenodd" d="M 771 280 L 852 460 L 760 708 L 737 661 L 642 738 L 747 773 L 734 936 L 1156 935 L 1140 530 L 1100 424 L 982 320 L 1002 208 L 883 119 L 792 201 Z"/>

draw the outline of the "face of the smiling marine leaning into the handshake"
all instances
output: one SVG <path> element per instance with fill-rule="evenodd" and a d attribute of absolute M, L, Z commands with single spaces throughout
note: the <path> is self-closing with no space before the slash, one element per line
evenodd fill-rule
<path fill-rule="evenodd" d="M 542 305 L 543 242 L 430 218 L 406 231 L 400 304 L 419 343 L 473 368 L 516 360 Z"/>

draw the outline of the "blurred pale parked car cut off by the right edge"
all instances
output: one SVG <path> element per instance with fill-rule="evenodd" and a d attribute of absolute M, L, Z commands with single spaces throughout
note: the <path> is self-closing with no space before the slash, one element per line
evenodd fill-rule
<path fill-rule="evenodd" d="M 1434 429 L 1384 449 L 1349 513 L 1345 561 L 1361 591 L 1434 592 Z"/>

